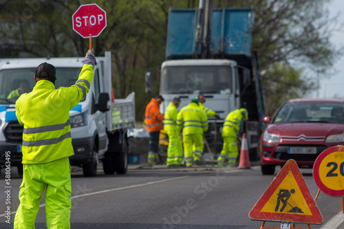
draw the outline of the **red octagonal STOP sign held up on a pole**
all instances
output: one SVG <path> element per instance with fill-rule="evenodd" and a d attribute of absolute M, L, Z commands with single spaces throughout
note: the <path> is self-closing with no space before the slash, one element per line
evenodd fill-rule
<path fill-rule="evenodd" d="M 73 14 L 73 29 L 83 38 L 97 37 L 107 27 L 107 14 L 96 3 L 80 5 Z"/>

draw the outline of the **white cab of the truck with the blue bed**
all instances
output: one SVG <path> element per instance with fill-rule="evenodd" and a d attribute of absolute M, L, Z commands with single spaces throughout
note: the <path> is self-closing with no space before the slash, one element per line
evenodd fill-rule
<path fill-rule="evenodd" d="M 237 63 L 231 60 L 166 60 L 162 63 L 160 93 L 164 97 L 162 110 L 180 97 L 181 107 L 200 93 L 206 97 L 206 107 L 226 118 L 230 110 L 239 108 Z"/>

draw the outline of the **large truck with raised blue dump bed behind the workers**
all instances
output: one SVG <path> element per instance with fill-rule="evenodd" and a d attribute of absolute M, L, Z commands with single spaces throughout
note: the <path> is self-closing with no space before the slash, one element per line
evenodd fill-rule
<path fill-rule="evenodd" d="M 204 94 L 204 106 L 220 116 L 208 117 L 205 133 L 207 145 L 217 154 L 222 149 L 224 119 L 229 112 L 246 108 L 249 119 L 244 132 L 250 159 L 258 160 L 265 102 L 257 52 L 252 49 L 255 14 L 251 8 L 213 9 L 211 3 L 200 1 L 197 9 L 169 10 L 166 60 L 160 69 L 160 94 L 164 97 L 160 111 L 164 112 L 173 97 L 181 99 L 182 108 Z M 146 73 L 146 80 L 149 75 Z"/>

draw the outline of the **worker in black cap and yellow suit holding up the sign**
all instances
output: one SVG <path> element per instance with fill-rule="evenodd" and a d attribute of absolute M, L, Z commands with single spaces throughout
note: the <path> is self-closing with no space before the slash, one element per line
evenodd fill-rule
<path fill-rule="evenodd" d="M 71 167 L 74 154 L 69 125 L 69 110 L 89 92 L 96 58 L 87 51 L 76 83 L 55 89 L 56 73 L 52 64 L 36 69 L 31 93 L 16 102 L 18 121 L 23 130 L 23 182 L 14 228 L 34 228 L 41 195 L 45 191 L 47 228 L 70 228 Z"/>

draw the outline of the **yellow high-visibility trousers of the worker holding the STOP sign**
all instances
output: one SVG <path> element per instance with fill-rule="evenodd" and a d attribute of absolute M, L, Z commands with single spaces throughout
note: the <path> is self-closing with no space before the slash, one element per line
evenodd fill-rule
<path fill-rule="evenodd" d="M 14 228 L 34 228 L 44 190 L 47 228 L 70 228 L 70 172 L 68 157 L 45 164 L 24 164 Z"/>

